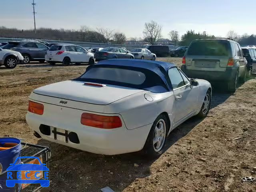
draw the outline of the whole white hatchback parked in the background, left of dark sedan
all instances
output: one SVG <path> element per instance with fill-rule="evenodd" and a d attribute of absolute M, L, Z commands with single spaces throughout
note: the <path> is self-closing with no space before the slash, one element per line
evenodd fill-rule
<path fill-rule="evenodd" d="M 64 66 L 70 63 L 89 63 L 94 64 L 94 54 L 84 48 L 72 44 L 52 45 L 45 54 L 46 62 L 50 64 L 62 63 Z"/>

